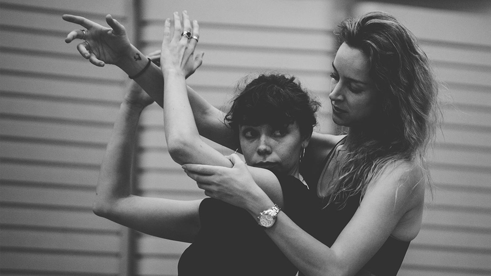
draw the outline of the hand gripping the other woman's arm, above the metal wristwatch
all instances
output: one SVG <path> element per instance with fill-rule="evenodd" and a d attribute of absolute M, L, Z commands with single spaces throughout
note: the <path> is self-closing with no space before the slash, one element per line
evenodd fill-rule
<path fill-rule="evenodd" d="M 264 194 L 252 178 L 246 163 L 237 154 L 229 156 L 232 168 L 185 164 L 186 174 L 205 190 L 205 195 L 247 209 L 250 199 Z"/>

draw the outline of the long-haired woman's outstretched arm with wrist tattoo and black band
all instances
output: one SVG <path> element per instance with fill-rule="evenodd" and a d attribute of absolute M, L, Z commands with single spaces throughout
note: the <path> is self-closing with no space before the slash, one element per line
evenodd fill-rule
<path fill-rule="evenodd" d="M 81 39 L 81 43 L 77 45 L 77 50 L 84 58 L 100 67 L 105 64 L 118 66 L 128 76 L 134 77 L 136 83 L 159 106 L 164 106 L 164 78 L 161 69 L 153 62 L 145 69 L 148 59 L 130 43 L 122 24 L 110 15 L 106 16 L 106 22 L 109 28 L 81 16 L 66 14 L 62 18 L 65 21 L 78 24 L 84 28 L 83 31 L 76 29 L 68 33 L 65 38 L 66 43 L 70 43 L 75 39 Z M 155 57 L 157 56 L 154 55 L 153 58 Z M 201 56 L 198 55 L 198 58 L 201 58 Z M 186 77 L 189 77 L 196 68 L 194 67 L 188 70 Z M 189 86 L 187 87 L 187 92 L 200 134 L 228 148 L 236 149 L 238 145 L 233 140 L 230 129 L 223 124 L 223 112 L 213 107 Z"/>

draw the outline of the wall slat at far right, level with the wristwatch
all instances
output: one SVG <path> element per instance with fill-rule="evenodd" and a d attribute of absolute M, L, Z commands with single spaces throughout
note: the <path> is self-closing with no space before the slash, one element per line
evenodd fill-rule
<path fill-rule="evenodd" d="M 423 223 L 443 225 L 449 229 L 452 227 L 491 228 L 491 213 L 455 212 L 430 207 L 423 214 Z"/>

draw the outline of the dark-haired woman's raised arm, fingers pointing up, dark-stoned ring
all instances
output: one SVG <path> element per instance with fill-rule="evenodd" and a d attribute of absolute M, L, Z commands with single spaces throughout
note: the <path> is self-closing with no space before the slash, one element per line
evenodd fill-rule
<path fill-rule="evenodd" d="M 183 31 L 184 30 L 184 31 Z M 182 33 L 191 32 L 189 38 Z M 183 26 L 177 12 L 174 13 L 174 30 L 171 33 L 170 20 L 164 23 L 161 67 L 164 76 L 164 128 L 167 147 L 173 160 L 179 164 L 197 163 L 231 167 L 232 163 L 220 152 L 205 143 L 198 133 L 186 93 L 186 68 L 195 62 L 194 48 L 199 36 L 199 26 L 183 12 Z M 191 37 L 191 35 L 190 35 Z M 282 204 L 282 193 L 274 174 L 266 169 L 255 168 L 254 180 L 277 204 Z"/>

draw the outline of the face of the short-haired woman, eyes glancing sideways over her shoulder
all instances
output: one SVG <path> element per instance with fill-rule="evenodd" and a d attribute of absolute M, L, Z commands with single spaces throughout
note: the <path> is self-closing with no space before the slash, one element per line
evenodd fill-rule
<path fill-rule="evenodd" d="M 239 140 L 247 165 L 288 175 L 298 172 L 300 151 L 308 144 L 297 122 L 279 129 L 269 124 L 240 125 Z"/>

